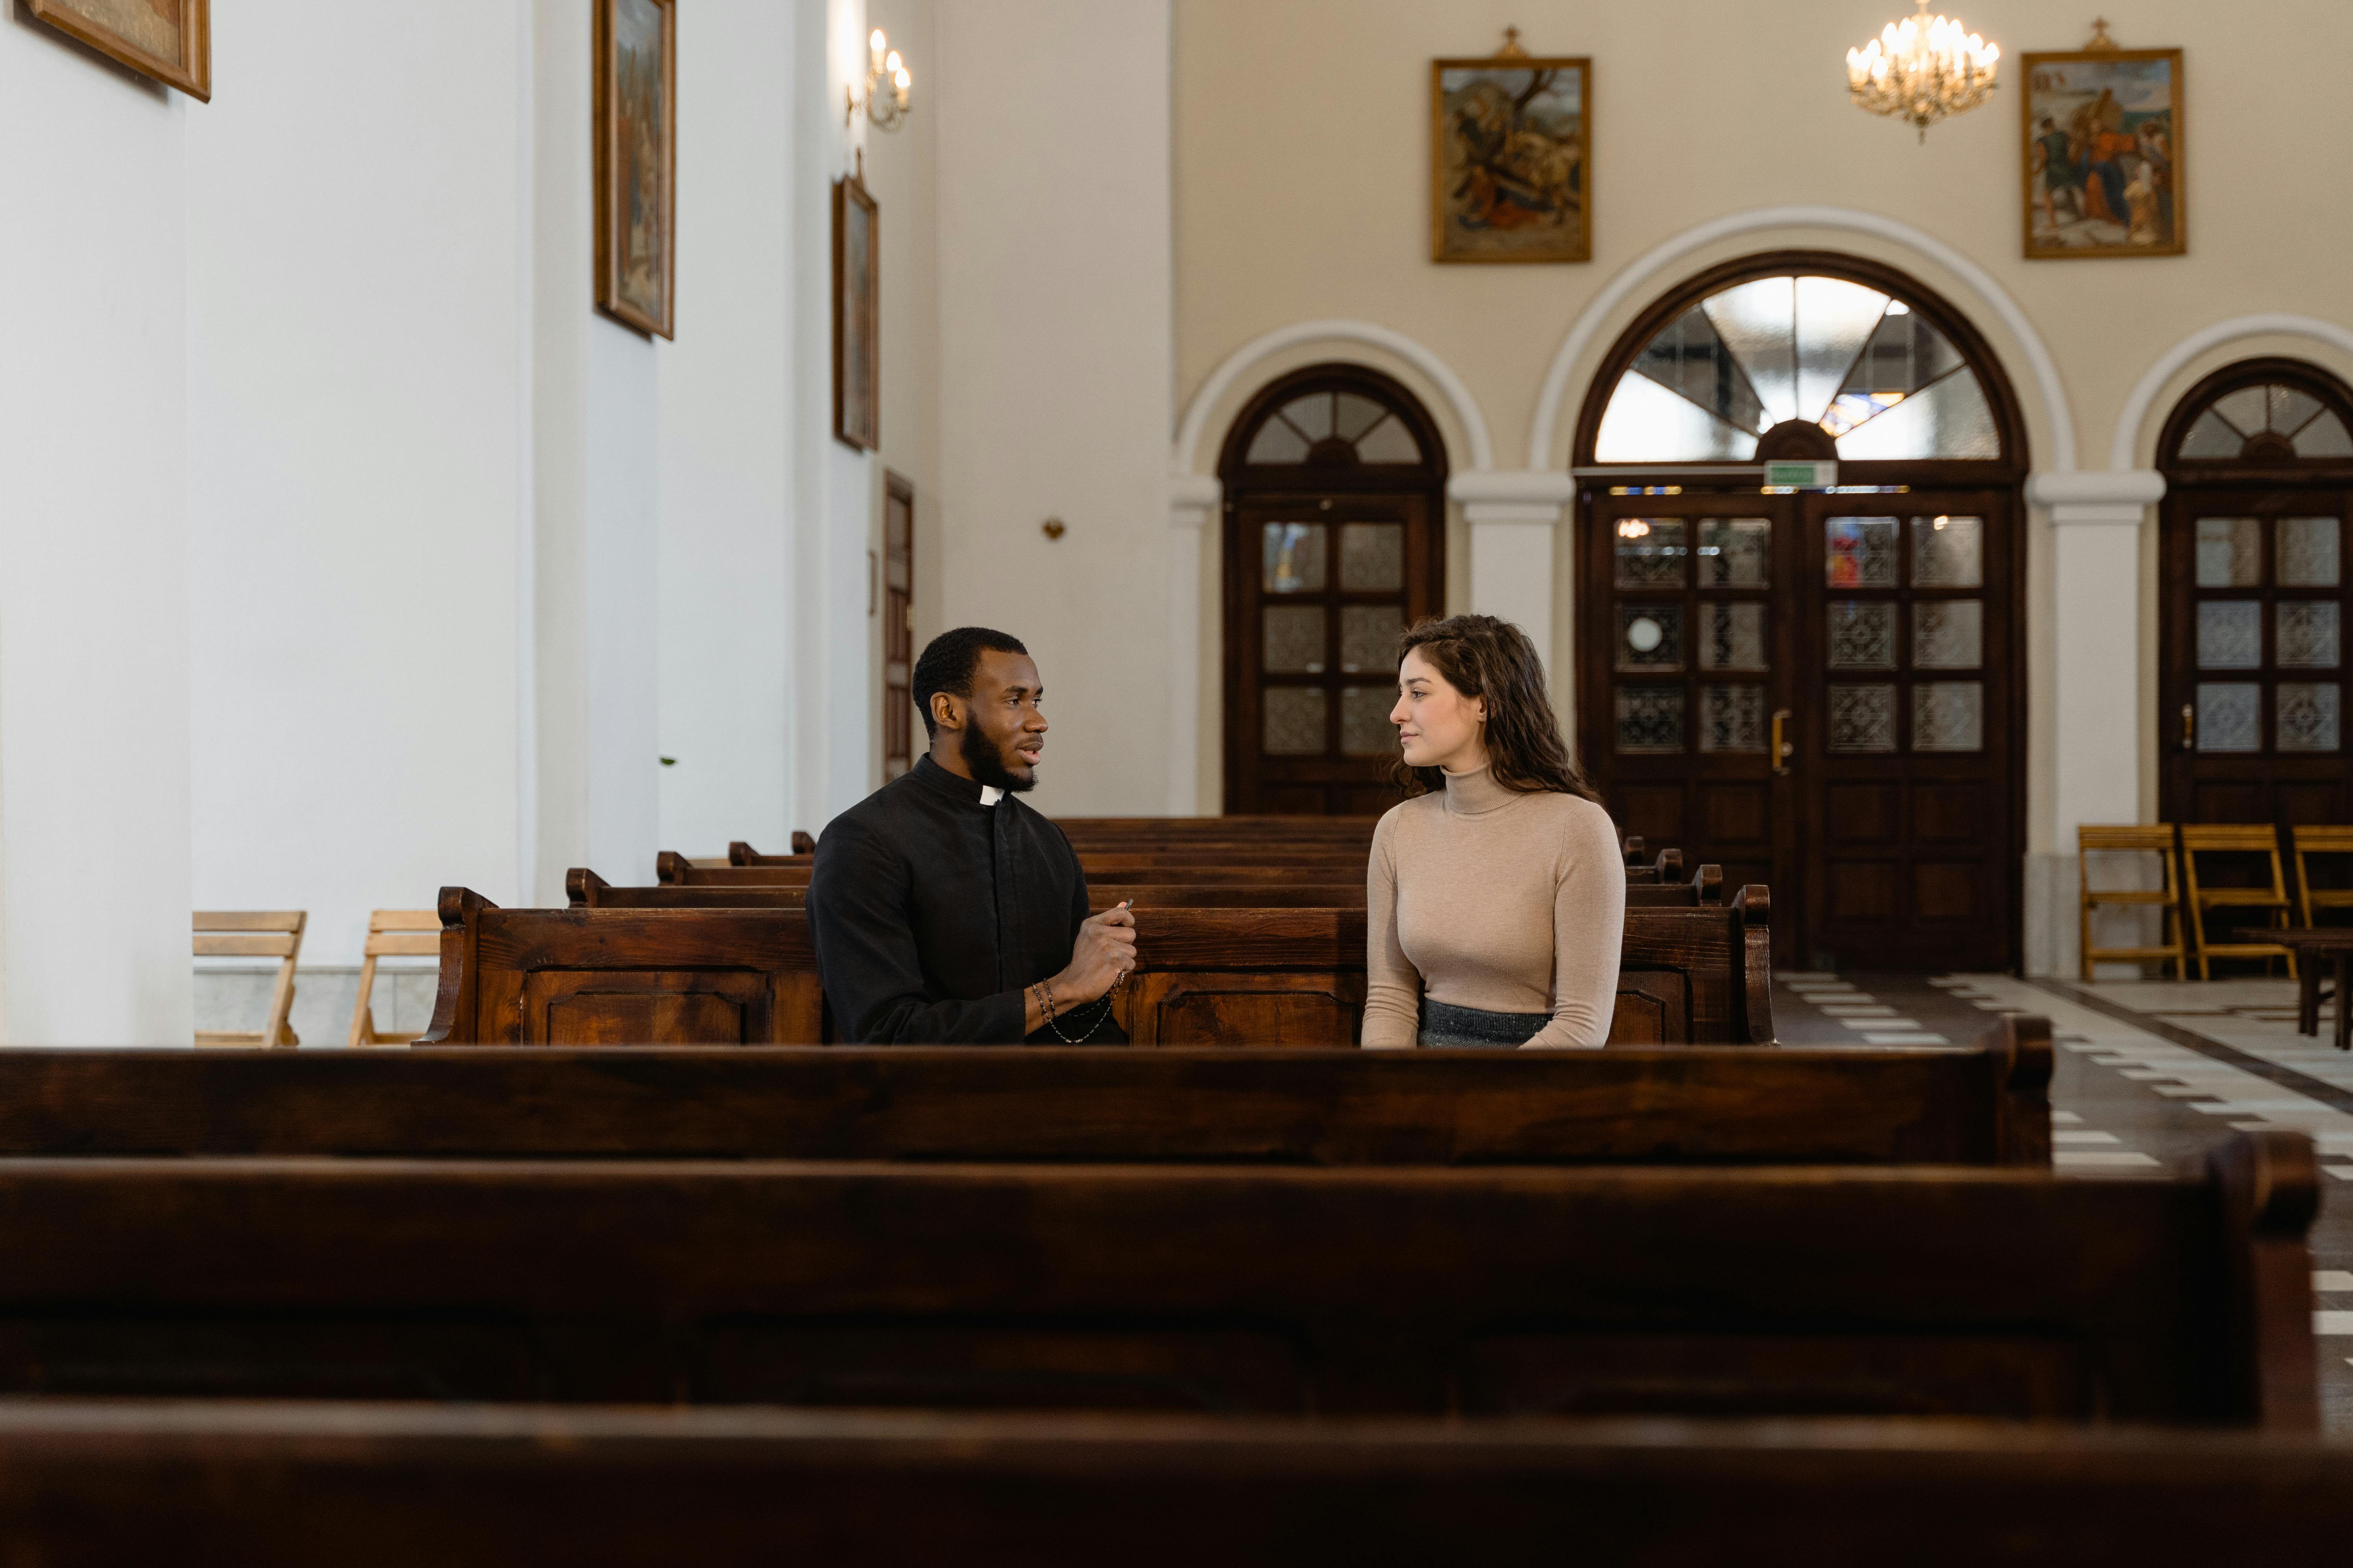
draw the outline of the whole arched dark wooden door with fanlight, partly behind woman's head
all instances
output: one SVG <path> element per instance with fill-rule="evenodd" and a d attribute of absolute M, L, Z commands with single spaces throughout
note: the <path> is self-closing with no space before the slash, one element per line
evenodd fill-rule
<path fill-rule="evenodd" d="M 1226 811 L 1398 802 L 1398 632 L 1445 604 L 1447 461 L 1402 386 L 1318 364 L 1259 393 L 1226 487 Z"/>

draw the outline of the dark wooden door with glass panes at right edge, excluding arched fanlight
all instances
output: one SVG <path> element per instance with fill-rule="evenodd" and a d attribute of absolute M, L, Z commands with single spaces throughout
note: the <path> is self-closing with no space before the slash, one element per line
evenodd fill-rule
<path fill-rule="evenodd" d="M 2160 811 L 2179 823 L 2353 820 L 2344 755 L 2348 491 L 2186 482 L 2165 498 Z"/>

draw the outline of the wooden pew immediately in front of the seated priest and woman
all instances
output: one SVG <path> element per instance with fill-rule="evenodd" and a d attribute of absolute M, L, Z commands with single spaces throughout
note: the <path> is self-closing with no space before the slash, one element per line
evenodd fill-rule
<path fill-rule="evenodd" d="M 2049 1025 L 1967 1048 L 0 1051 L 0 1157 L 2049 1166 Z"/>

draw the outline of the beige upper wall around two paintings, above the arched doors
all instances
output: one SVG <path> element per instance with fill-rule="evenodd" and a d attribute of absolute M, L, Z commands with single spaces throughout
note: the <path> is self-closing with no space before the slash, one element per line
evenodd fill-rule
<path fill-rule="evenodd" d="M 1174 0 L 1179 409 L 1252 339 L 1292 322 L 1358 317 L 1407 334 L 1452 367 L 1492 430 L 1497 465 L 1520 468 L 1546 369 L 1612 277 L 1701 223 L 1800 202 L 1885 214 L 1984 268 L 2057 364 L 2080 468 L 2108 465 L 2134 381 L 2191 331 L 2266 310 L 2353 322 L 2344 268 L 2353 207 L 2341 200 L 2353 99 L 2334 82 L 2353 47 L 2353 7 L 2151 0 L 2122 19 L 2115 33 L 2129 47 L 2186 49 L 2191 242 L 2188 256 L 2122 261 L 2019 254 L 2017 54 L 2078 47 L 2082 24 L 2024 0 L 1969 0 L 1967 24 L 2002 45 L 2012 75 L 1993 103 L 1934 127 L 1922 146 L 1906 127 L 1852 108 L 1842 82 L 1845 49 L 1899 12 L 1894 0 Z M 1428 261 L 1428 61 L 1485 54 L 1506 24 L 1537 52 L 1593 56 L 1591 263 Z M 1885 237 L 1809 228 L 1692 252 L 1612 310 L 1569 378 L 1553 465 L 1565 463 L 1591 362 L 1642 306 L 1715 261 L 1791 244 L 1875 256 L 1953 299 L 2019 390 L 2033 465 L 2061 465 L 2054 411 L 2035 390 L 2026 346 L 1965 277 Z M 2137 461 L 2148 461 L 2153 428 L 2181 388 L 2212 364 L 2264 350 L 2264 341 L 2247 341 L 2186 367 L 2139 435 Z M 2287 353 L 2353 371 L 2311 341 L 2289 341 Z M 1304 346 L 1242 376 L 1212 414 L 1195 468 L 1214 463 L 1249 390 L 1313 357 L 1327 355 Z M 1426 376 L 1405 378 L 1447 418 Z M 2120 576 L 2129 574 L 2132 562 L 2120 562 Z M 2155 668 L 2151 574 L 2144 562 L 2144 684 Z M 2028 835 L 2033 849 L 2049 849 L 2054 604 L 2040 524 L 2031 529 L 2026 602 Z M 1565 621 L 1572 597 L 1560 604 Z M 1553 632 L 1555 670 L 1567 670 L 1565 625 Z M 1202 738 L 1214 745 L 1217 682 L 1205 679 L 1202 693 Z M 2153 804 L 2148 757 L 2139 771 Z"/>

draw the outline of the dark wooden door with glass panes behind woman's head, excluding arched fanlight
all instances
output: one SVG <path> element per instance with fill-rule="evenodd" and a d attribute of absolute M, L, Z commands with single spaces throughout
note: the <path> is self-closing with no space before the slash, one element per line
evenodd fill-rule
<path fill-rule="evenodd" d="M 1398 635 L 1438 614 L 1438 562 L 1426 496 L 1245 496 L 1226 508 L 1226 811 L 1398 804 Z"/>

